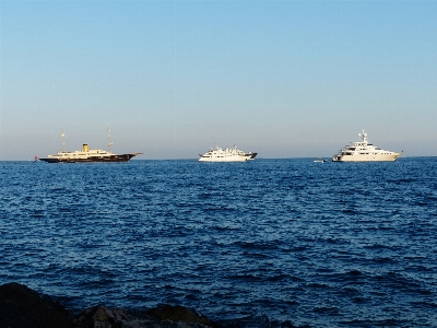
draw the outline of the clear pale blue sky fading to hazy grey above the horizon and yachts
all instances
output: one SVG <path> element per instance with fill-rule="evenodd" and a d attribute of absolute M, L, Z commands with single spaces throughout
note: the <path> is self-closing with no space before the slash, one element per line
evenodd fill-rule
<path fill-rule="evenodd" d="M 0 160 L 437 155 L 437 1 L 0 0 Z"/>

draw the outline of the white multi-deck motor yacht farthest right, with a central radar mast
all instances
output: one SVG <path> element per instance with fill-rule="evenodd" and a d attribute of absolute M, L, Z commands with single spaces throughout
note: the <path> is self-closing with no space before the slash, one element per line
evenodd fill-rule
<path fill-rule="evenodd" d="M 358 133 L 362 141 L 346 145 L 332 157 L 333 162 L 393 162 L 402 153 L 385 151 L 368 143 L 367 133 Z"/>

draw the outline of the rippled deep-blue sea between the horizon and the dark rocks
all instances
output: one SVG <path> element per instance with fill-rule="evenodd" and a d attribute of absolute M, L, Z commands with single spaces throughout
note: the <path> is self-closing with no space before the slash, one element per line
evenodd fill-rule
<path fill-rule="evenodd" d="M 437 327 L 437 157 L 0 162 L 0 284 L 75 313 Z"/>

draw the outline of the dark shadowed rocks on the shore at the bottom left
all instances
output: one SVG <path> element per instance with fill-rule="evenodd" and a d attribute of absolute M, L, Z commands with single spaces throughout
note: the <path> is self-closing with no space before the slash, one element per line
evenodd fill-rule
<path fill-rule="evenodd" d="M 95 306 L 74 315 L 49 296 L 19 283 L 0 285 L 0 328 L 221 328 L 184 306 L 146 311 Z"/>

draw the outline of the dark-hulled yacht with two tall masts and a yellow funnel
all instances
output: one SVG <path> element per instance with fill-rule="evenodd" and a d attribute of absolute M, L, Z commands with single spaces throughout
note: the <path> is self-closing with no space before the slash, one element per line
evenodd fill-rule
<path fill-rule="evenodd" d="M 87 144 L 83 144 L 82 151 L 67 152 L 66 142 L 63 140 L 64 133 L 62 129 L 61 138 L 63 143 L 63 150 L 58 152 L 56 155 L 48 155 L 47 159 L 39 159 L 47 163 L 88 163 L 88 162 L 129 162 L 133 156 L 140 155 L 141 153 L 130 154 L 115 154 L 110 152 L 113 142 L 109 136 L 110 130 L 108 129 L 108 147 L 109 151 L 99 149 L 90 149 Z"/>

